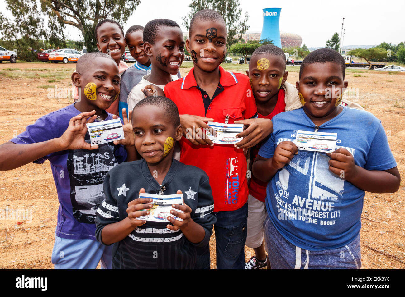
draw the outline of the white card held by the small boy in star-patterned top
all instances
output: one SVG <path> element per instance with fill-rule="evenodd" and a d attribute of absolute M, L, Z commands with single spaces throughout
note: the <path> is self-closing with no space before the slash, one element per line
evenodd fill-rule
<path fill-rule="evenodd" d="M 178 221 L 183 221 L 179 217 L 172 215 L 170 211 L 173 209 L 178 211 L 179 213 L 183 213 L 183 211 L 179 209 L 174 209 L 172 204 L 180 204 L 184 205 L 183 194 L 174 194 L 174 195 L 158 195 L 158 194 L 146 194 L 141 193 L 139 198 L 152 198 L 152 202 L 148 202 L 146 204 L 152 204 L 151 209 L 144 209 L 150 211 L 149 215 L 144 215 L 142 217 L 138 217 L 137 219 L 146 220 L 146 221 L 153 221 L 153 222 L 168 222 L 166 219 L 167 216 L 172 216 Z"/>

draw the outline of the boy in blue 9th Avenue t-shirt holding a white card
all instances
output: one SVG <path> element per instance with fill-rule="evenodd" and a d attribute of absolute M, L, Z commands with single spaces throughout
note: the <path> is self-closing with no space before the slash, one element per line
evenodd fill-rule
<path fill-rule="evenodd" d="M 399 189 L 401 177 L 381 121 L 339 105 L 344 76 L 339 53 L 328 48 L 310 53 L 296 83 L 303 108 L 273 117 L 273 134 L 253 164 L 253 174 L 270 181 L 264 228 L 273 269 L 360 269 L 364 191 Z M 298 130 L 337 133 L 336 150 L 298 149 Z"/>

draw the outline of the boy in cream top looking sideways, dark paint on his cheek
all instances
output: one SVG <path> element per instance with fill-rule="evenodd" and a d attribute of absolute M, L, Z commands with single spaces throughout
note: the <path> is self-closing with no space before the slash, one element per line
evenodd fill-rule
<path fill-rule="evenodd" d="M 161 89 L 168 82 L 177 80 L 179 68 L 184 59 L 184 37 L 179 25 L 170 19 L 149 21 L 143 30 L 144 50 L 151 61 L 151 73 L 132 88 L 128 95 L 128 108 L 146 97 L 142 91 L 154 84 Z"/>

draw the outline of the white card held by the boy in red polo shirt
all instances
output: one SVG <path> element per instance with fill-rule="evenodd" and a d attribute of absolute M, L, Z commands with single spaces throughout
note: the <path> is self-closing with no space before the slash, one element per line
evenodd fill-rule
<path fill-rule="evenodd" d="M 207 136 L 213 143 L 234 144 L 242 140 L 235 136 L 243 132 L 243 124 L 224 124 L 217 122 L 208 122 L 207 124 L 217 133 L 215 137 L 207 131 Z"/>

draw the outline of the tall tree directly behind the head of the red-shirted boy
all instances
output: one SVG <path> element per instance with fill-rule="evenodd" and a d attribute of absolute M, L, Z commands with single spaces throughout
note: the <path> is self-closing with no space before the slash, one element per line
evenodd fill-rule
<path fill-rule="evenodd" d="M 190 13 L 181 18 L 187 29 L 190 28 L 192 17 L 200 10 L 213 9 L 222 15 L 228 29 L 228 48 L 242 40 L 242 35 L 249 29 L 247 25 L 249 15 L 245 13 L 245 17 L 242 19 L 242 8 L 239 8 L 239 0 L 192 0 L 188 7 L 191 8 Z"/>

